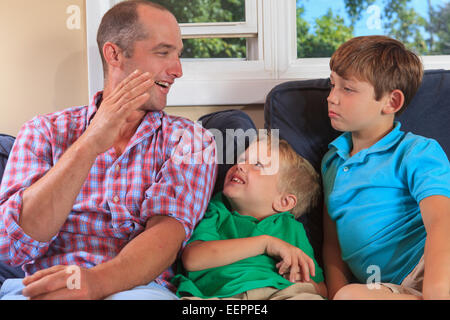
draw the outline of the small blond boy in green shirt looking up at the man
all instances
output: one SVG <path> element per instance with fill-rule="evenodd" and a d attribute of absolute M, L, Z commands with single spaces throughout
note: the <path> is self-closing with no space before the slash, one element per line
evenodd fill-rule
<path fill-rule="evenodd" d="M 320 179 L 286 141 L 277 142 L 252 143 L 227 172 L 223 192 L 211 200 L 183 252 L 186 272 L 173 280 L 178 296 L 326 297 L 322 270 L 295 220 L 317 203 Z"/>

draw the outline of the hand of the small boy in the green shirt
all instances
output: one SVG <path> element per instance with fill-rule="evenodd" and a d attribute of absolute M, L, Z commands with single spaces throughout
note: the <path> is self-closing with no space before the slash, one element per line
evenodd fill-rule
<path fill-rule="evenodd" d="M 276 267 L 281 275 L 289 273 L 288 280 L 309 281 L 310 273 L 315 276 L 314 261 L 299 248 L 275 237 L 269 237 L 266 246 L 266 253 L 281 261 Z M 287 277 L 286 277 L 287 278 Z"/>

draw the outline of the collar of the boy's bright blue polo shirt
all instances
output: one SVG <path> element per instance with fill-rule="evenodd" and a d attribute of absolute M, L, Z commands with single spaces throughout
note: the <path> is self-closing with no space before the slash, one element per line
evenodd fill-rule
<path fill-rule="evenodd" d="M 405 134 L 403 131 L 400 130 L 400 127 L 401 123 L 398 121 L 394 121 L 394 128 L 391 130 L 391 132 L 389 132 L 387 135 L 385 135 L 371 147 L 361 150 L 360 152 L 358 152 L 356 155 L 353 156 L 355 162 L 363 161 L 366 155 L 368 154 L 381 152 L 395 145 Z M 336 149 L 336 153 L 342 159 L 344 160 L 349 159 L 350 152 L 353 147 L 351 132 L 345 132 L 339 137 L 337 137 L 335 140 L 333 140 L 329 144 L 329 148 L 331 149 L 332 147 Z"/>

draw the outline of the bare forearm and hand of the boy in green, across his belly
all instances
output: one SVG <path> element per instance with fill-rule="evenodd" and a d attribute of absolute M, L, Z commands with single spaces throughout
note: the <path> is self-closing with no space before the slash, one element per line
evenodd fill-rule
<path fill-rule="evenodd" d="M 233 262 L 267 254 L 281 260 L 279 273 L 289 270 L 291 282 L 295 282 L 298 273 L 309 281 L 311 273 L 315 275 L 314 261 L 299 248 L 276 237 L 261 235 L 249 238 L 194 241 L 184 250 L 183 266 L 188 271 L 198 271 L 220 267 Z M 278 266 L 277 265 L 277 266 Z"/>

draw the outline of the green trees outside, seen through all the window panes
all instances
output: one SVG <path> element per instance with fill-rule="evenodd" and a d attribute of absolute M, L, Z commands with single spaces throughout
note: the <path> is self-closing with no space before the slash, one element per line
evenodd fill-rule
<path fill-rule="evenodd" d="M 180 23 L 244 21 L 244 0 L 152 0 L 177 17 Z M 279 0 L 285 1 L 285 0 Z M 425 0 L 424 0 L 425 1 Z M 305 1 L 298 1 L 304 3 Z M 419 54 L 450 54 L 450 2 L 431 7 L 428 12 L 415 11 L 411 0 L 383 0 L 384 33 L 406 44 Z M 312 27 L 304 18 L 304 7 L 297 9 L 297 54 L 299 58 L 329 57 L 343 42 L 354 36 L 354 26 L 375 0 L 344 0 L 350 17 L 331 10 L 315 20 Z M 314 1 L 308 5 L 315 5 Z M 246 58 L 246 40 L 184 40 L 184 58 Z"/>

